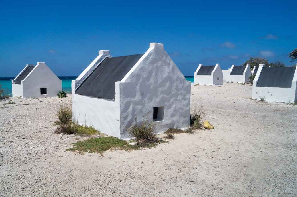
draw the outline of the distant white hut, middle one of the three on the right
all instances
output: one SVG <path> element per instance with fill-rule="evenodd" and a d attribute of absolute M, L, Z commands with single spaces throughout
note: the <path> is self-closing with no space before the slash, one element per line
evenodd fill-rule
<path fill-rule="evenodd" d="M 224 72 L 225 75 L 225 72 Z M 249 80 L 249 77 L 252 75 L 251 69 L 249 68 L 249 64 L 246 66 L 235 66 L 232 65 L 228 76 L 224 76 L 224 78 L 228 79 L 230 82 L 234 83 L 246 83 Z"/>

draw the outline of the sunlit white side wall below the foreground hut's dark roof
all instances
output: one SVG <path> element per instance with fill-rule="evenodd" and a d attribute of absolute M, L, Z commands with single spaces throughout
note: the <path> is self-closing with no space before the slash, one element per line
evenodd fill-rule
<path fill-rule="evenodd" d="M 102 133 L 120 137 L 119 87 L 115 87 L 115 101 L 75 94 L 72 80 L 72 116 L 80 125 L 93 126 Z"/>

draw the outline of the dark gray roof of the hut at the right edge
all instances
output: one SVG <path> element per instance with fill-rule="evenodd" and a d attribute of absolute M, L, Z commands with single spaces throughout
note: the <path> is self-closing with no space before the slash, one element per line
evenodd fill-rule
<path fill-rule="evenodd" d="M 291 88 L 295 67 L 264 67 L 257 87 Z"/>

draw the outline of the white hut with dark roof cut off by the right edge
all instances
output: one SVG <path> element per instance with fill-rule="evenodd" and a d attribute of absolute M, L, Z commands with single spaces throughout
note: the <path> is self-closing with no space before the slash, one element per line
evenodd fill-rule
<path fill-rule="evenodd" d="M 297 102 L 297 67 L 265 67 L 259 69 L 253 81 L 252 99 L 269 102 Z"/>

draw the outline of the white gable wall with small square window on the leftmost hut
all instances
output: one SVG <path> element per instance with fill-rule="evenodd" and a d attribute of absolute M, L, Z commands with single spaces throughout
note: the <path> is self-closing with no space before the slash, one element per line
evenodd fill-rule
<path fill-rule="evenodd" d="M 23 97 L 57 96 L 57 93 L 62 90 L 62 80 L 44 62 L 37 62 L 37 65 L 21 84 L 23 86 Z M 40 88 L 47 88 L 47 94 L 40 95 Z"/>

